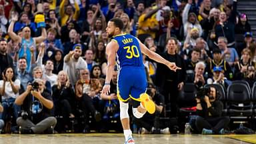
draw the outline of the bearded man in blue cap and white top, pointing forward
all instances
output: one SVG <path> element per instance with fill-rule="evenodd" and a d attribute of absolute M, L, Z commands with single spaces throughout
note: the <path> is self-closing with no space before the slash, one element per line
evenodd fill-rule
<path fill-rule="evenodd" d="M 79 79 L 79 69 L 87 69 L 87 63 L 82 55 L 82 45 L 77 44 L 73 46 L 73 51 L 69 51 L 64 57 L 63 70 L 69 75 L 69 80 L 72 85 L 75 85 Z"/>

